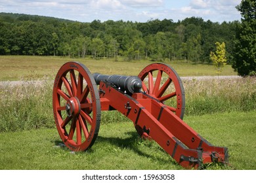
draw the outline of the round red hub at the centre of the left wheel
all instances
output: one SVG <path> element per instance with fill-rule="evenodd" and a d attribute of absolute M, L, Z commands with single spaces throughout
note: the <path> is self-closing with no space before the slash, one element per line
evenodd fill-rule
<path fill-rule="evenodd" d="M 68 116 L 77 116 L 80 113 L 81 106 L 77 97 L 71 97 L 66 103 L 66 112 Z"/>

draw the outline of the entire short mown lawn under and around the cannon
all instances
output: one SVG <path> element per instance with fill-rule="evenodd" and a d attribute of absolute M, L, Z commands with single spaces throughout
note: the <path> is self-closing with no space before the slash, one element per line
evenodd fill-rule
<path fill-rule="evenodd" d="M 121 115 L 121 114 L 116 114 Z M 230 164 L 207 169 L 256 169 L 256 112 L 231 112 L 184 119 L 200 135 L 228 147 Z M 88 152 L 56 146 L 56 129 L 0 133 L 0 169 L 183 169 L 154 141 L 139 139 L 131 122 L 104 122 Z"/>

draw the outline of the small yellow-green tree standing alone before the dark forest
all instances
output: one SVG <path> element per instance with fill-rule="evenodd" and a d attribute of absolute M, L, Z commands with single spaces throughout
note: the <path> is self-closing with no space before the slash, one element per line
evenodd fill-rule
<path fill-rule="evenodd" d="M 221 71 L 223 71 L 223 67 L 226 65 L 226 46 L 225 43 L 216 42 L 216 52 L 210 53 L 210 58 L 213 61 L 213 65 L 215 65 L 216 72 L 219 76 Z"/>

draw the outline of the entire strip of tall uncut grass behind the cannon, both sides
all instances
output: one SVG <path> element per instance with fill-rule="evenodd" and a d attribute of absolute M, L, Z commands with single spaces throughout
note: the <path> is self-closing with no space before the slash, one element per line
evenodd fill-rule
<path fill-rule="evenodd" d="M 185 115 L 256 110 L 256 78 L 184 80 Z M 53 80 L 23 80 L 0 85 L 0 132 L 54 127 Z M 123 121 L 118 112 L 102 112 L 102 122 Z"/>

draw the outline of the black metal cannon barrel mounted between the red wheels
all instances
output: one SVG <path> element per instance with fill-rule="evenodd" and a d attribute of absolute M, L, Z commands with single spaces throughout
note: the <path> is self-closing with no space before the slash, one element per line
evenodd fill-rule
<path fill-rule="evenodd" d="M 93 77 L 96 84 L 100 84 L 100 81 L 110 82 L 123 92 L 138 93 L 142 87 L 142 81 L 137 76 L 100 75 L 99 73 L 94 73 Z"/>

